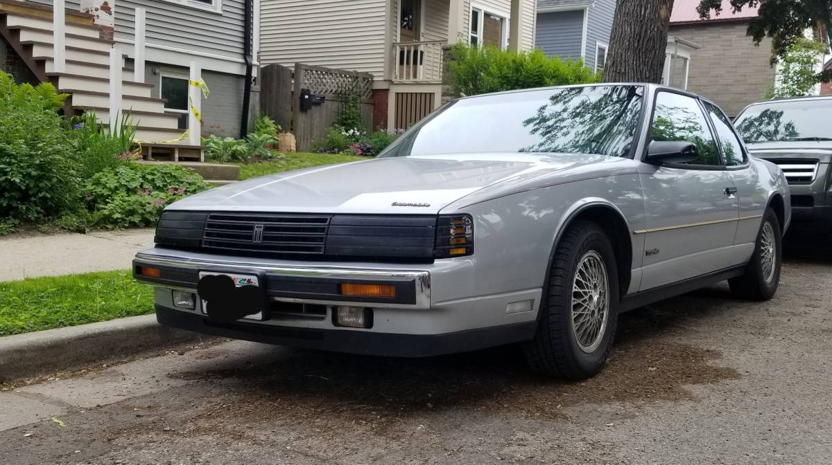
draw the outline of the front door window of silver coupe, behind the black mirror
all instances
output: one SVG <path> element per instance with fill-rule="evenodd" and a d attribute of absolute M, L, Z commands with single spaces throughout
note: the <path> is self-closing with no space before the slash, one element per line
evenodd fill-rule
<path fill-rule="evenodd" d="M 699 158 L 690 164 L 720 165 L 719 150 L 711 135 L 705 114 L 696 99 L 673 92 L 656 95 L 656 110 L 650 127 L 653 140 L 686 140 L 699 149 Z"/>

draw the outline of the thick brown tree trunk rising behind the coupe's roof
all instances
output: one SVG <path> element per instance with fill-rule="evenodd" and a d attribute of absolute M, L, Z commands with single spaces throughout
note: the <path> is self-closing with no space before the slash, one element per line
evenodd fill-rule
<path fill-rule="evenodd" d="M 673 0 L 619 0 L 604 82 L 661 83 Z"/>

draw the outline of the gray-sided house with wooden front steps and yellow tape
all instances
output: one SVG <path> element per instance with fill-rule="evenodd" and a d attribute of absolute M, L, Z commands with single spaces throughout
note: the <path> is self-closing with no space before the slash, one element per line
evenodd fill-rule
<path fill-rule="evenodd" d="M 52 81 L 71 94 L 69 114 L 94 110 L 108 122 L 120 107 L 148 146 L 193 148 L 200 135 L 237 137 L 257 108 L 256 93 L 245 98 L 257 71 L 256 1 L 0 0 L 0 69 L 21 81 Z M 121 80 L 111 79 L 116 71 Z M 190 85 L 200 78 L 206 99 Z M 121 101 L 110 99 L 116 81 Z"/>

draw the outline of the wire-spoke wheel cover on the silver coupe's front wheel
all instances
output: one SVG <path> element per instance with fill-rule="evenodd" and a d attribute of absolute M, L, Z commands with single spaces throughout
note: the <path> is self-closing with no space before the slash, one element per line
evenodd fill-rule
<path fill-rule="evenodd" d="M 607 267 L 601 255 L 590 250 L 581 257 L 572 278 L 572 335 L 587 354 L 597 350 L 604 339 L 610 314 L 609 295 Z"/>

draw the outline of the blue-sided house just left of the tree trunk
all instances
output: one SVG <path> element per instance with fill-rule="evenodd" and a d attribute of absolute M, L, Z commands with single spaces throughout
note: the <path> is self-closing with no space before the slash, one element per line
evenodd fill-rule
<path fill-rule="evenodd" d="M 539 0 L 535 47 L 602 71 L 615 12 L 616 0 Z"/>

